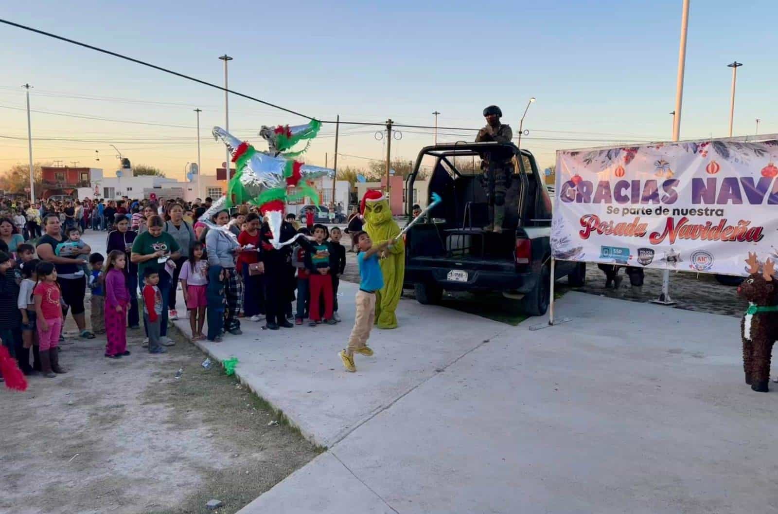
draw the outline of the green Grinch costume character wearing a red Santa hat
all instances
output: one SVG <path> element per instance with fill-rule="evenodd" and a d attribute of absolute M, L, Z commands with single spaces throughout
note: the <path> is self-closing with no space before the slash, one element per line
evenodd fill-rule
<path fill-rule="evenodd" d="M 370 235 L 373 245 L 396 238 L 400 227 L 391 217 L 389 200 L 380 191 L 369 190 L 362 199 L 363 230 Z M 405 242 L 399 239 L 387 248 L 380 259 L 384 287 L 376 291 L 376 325 L 379 329 L 396 329 L 397 305 L 405 278 Z"/>

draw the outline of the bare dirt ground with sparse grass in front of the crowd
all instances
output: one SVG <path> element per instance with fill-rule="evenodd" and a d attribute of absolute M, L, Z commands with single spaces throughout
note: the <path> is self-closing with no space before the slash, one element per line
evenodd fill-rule
<path fill-rule="evenodd" d="M 165 355 L 129 335 L 121 360 L 72 339 L 66 375 L 0 388 L 0 512 L 236 512 L 321 451 L 175 331 Z"/>

